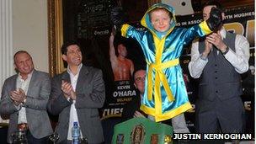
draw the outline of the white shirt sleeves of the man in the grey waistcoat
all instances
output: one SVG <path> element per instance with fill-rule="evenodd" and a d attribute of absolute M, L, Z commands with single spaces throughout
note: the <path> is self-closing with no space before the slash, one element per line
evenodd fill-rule
<path fill-rule="evenodd" d="M 222 39 L 226 38 L 227 32 L 223 27 L 220 33 Z M 243 35 L 236 35 L 235 50 L 236 52 L 232 51 L 232 49 L 229 49 L 224 57 L 232 64 L 232 66 L 238 73 L 247 72 L 250 51 L 248 40 Z M 199 41 L 194 41 L 191 47 L 191 60 L 189 61 L 189 73 L 191 77 L 200 77 L 207 62 L 207 57 L 205 59 L 202 59 L 200 56 Z"/>

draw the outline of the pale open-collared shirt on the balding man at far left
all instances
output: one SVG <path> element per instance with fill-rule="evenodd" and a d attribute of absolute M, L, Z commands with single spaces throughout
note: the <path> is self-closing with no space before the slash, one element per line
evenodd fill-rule
<path fill-rule="evenodd" d="M 29 73 L 27 79 L 25 80 L 21 78 L 20 74 L 18 75 L 17 81 L 16 81 L 17 91 L 19 90 L 19 88 L 21 88 L 24 91 L 24 93 L 27 95 L 32 73 L 33 72 Z M 26 108 L 23 107 L 23 104 L 19 104 L 19 106 L 16 108 L 19 109 L 18 124 L 27 123 Z"/>

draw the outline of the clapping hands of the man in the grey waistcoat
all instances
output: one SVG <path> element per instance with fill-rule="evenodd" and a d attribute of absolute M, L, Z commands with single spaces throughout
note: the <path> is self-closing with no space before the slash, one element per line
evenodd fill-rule
<path fill-rule="evenodd" d="M 216 48 L 219 49 L 221 52 L 224 52 L 227 49 L 227 45 L 225 45 L 225 43 L 223 42 L 219 31 L 217 33 L 212 33 L 211 35 L 208 35 L 206 37 L 206 40 L 209 41 L 212 45 L 215 45 Z"/>

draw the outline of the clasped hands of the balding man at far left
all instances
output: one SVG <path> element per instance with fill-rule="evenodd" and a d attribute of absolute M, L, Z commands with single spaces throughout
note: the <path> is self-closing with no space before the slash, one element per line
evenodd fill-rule
<path fill-rule="evenodd" d="M 15 105 L 19 105 L 24 102 L 24 99 L 26 99 L 26 95 L 24 93 L 24 90 L 19 88 L 19 90 L 14 90 L 10 92 L 10 97 L 13 100 L 13 103 Z"/>

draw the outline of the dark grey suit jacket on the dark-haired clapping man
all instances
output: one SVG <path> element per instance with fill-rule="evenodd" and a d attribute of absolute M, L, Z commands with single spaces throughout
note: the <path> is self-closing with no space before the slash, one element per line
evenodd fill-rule
<path fill-rule="evenodd" d="M 63 72 L 53 77 L 51 82 L 51 96 L 47 109 L 52 115 L 59 115 L 56 133 L 60 139 L 57 142 L 67 141 L 71 101 L 68 101 L 61 91 L 61 80 L 70 82 L 69 73 Z M 104 104 L 105 88 L 102 72 L 93 67 L 83 66 L 77 79 L 77 99 L 75 107 L 80 129 L 88 143 L 104 141 L 103 129 L 99 119 L 99 108 Z"/>

